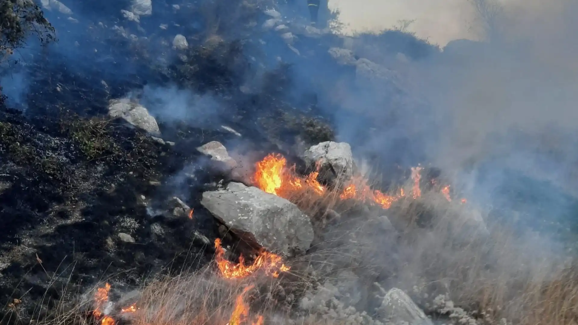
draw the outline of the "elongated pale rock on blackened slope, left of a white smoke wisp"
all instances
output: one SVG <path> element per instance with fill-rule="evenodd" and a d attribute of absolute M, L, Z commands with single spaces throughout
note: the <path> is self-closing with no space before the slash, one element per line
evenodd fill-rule
<path fill-rule="evenodd" d="M 149 110 L 142 105 L 131 103 L 127 100 L 114 100 L 109 105 L 108 115 L 113 119 L 123 119 L 135 127 L 153 135 L 159 135 L 157 120 L 149 114 Z"/>

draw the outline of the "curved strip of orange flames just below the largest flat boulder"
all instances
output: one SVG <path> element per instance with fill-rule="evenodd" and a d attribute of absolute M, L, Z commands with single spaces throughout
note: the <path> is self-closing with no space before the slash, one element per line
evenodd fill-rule
<path fill-rule="evenodd" d="M 239 263 L 235 264 L 231 261 L 225 259 L 225 250 L 221 246 L 221 239 L 215 239 L 215 249 L 217 250 L 217 255 L 215 260 L 217 262 L 217 267 L 221 274 L 227 279 L 239 279 L 245 278 L 251 274 L 254 274 L 259 269 L 265 271 L 265 274 L 271 274 L 273 277 L 277 278 L 279 272 L 287 272 L 290 270 L 285 264 L 283 264 L 283 259 L 281 256 L 273 254 L 271 252 L 261 251 L 253 264 L 245 265 L 244 257 L 239 257 Z"/>

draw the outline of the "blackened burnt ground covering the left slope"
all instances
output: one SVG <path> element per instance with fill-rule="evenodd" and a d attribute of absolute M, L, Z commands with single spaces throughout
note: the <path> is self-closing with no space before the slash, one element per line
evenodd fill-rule
<path fill-rule="evenodd" d="M 289 87 L 290 67 L 269 72 L 267 87 L 257 93 L 238 90 L 240 76 L 251 69 L 239 44 L 192 45 L 189 61 L 162 69 L 132 51 L 131 60 L 146 64 L 122 79 L 50 57 L 27 67 L 26 109 L 0 104 L 0 323 L 50 317 L 59 300 L 73 301 L 101 281 L 128 291 L 151 274 L 212 260 L 213 248 L 195 241 L 194 233 L 210 241 L 218 236 L 218 224 L 199 201 L 220 176 L 204 171 L 195 147 L 232 142 L 236 135 L 159 120 L 162 138 L 175 143 L 161 144 L 106 117 L 109 99 L 142 87 L 143 80 L 220 97 L 231 113 L 224 123 L 243 135 L 247 149 L 263 155 L 290 155 L 296 138 L 333 139 L 314 101 L 295 104 L 280 95 Z M 183 180 L 185 168 L 198 175 Z M 150 212 L 151 204 L 162 206 L 173 195 L 195 209 L 193 220 Z M 121 241 L 120 232 L 135 242 Z M 21 303 L 9 307 L 15 298 Z"/>

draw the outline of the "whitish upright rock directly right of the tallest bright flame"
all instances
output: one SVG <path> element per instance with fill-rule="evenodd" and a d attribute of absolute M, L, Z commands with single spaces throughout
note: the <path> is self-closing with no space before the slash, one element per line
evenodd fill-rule
<path fill-rule="evenodd" d="M 310 167 L 318 167 L 320 175 L 329 182 L 336 178 L 348 180 L 353 176 L 353 154 L 346 142 L 321 142 L 311 146 L 304 154 Z"/>

